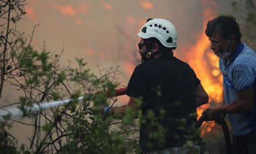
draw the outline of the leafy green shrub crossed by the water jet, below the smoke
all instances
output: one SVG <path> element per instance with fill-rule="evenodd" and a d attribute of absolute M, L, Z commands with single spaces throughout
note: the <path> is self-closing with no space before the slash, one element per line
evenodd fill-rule
<path fill-rule="evenodd" d="M 135 123 L 129 117 L 125 123 L 113 122 L 111 117 L 103 123 L 97 110 L 97 106 L 117 101 L 117 98 L 107 98 L 106 95 L 119 85 L 116 68 L 100 70 L 101 74 L 105 72 L 98 78 L 90 74 L 81 59 L 77 59 L 78 68 L 61 68 L 61 55 L 51 54 L 45 49 L 39 53 L 32 46 L 26 46 L 22 39 L 18 44 L 22 50 L 11 54 L 13 61 L 17 62 L 18 73 L 11 72 L 7 76 L 24 93 L 19 106 L 24 116 L 34 119 L 33 137 L 25 151 L 127 153 L 136 149 L 137 137 L 130 137 L 137 131 Z M 96 92 L 96 95 L 90 95 Z M 84 96 L 82 103 L 79 96 Z M 65 98 L 72 98 L 72 101 L 52 110 L 30 110 L 35 104 Z M 44 137 L 40 137 L 41 131 L 46 132 Z"/>

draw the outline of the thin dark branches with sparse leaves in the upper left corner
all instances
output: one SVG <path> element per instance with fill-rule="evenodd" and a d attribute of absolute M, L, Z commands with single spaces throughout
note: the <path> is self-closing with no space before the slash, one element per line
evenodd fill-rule
<path fill-rule="evenodd" d="M 24 33 L 19 33 L 15 29 L 15 23 L 19 21 L 24 11 L 25 1 L 22 0 L 3 0 L 0 2 L 0 96 L 3 90 L 3 84 L 8 82 L 7 74 L 18 69 L 17 64 L 13 61 L 11 51 L 18 48 L 17 40 L 23 37 Z"/>

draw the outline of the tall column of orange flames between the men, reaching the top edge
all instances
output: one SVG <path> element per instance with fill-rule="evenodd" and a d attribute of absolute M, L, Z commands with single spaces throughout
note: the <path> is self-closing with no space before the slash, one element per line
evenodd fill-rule
<path fill-rule="evenodd" d="M 197 43 L 189 48 L 186 57 L 183 59 L 188 62 L 201 80 L 201 84 L 210 97 L 209 102 L 219 103 L 222 102 L 222 75 L 218 67 L 218 57 L 210 50 L 210 41 L 204 33 L 207 21 L 213 19 L 216 13 L 211 9 L 211 5 L 214 5 L 214 3 L 203 0 L 201 2 L 205 8 L 203 11 L 203 27 L 198 35 Z M 209 106 L 208 103 L 197 108 L 198 117 L 201 117 L 201 112 Z M 201 129 L 201 134 L 212 131 L 215 123 L 208 123 L 208 126 Z"/>

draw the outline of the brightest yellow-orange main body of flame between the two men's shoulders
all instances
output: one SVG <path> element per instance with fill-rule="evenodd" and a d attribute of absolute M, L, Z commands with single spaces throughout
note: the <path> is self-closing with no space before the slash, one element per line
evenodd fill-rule
<path fill-rule="evenodd" d="M 203 32 L 197 44 L 187 52 L 186 57 L 210 96 L 210 101 L 221 102 L 222 78 L 218 69 L 218 58 L 210 51 L 210 42 Z"/>

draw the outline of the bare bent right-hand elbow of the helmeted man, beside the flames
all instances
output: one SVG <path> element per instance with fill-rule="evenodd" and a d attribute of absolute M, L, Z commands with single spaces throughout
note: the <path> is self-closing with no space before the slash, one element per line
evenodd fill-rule
<path fill-rule="evenodd" d="M 195 102 L 197 103 L 197 107 L 206 104 L 208 101 L 209 96 L 200 83 L 197 87 L 195 87 Z"/>

